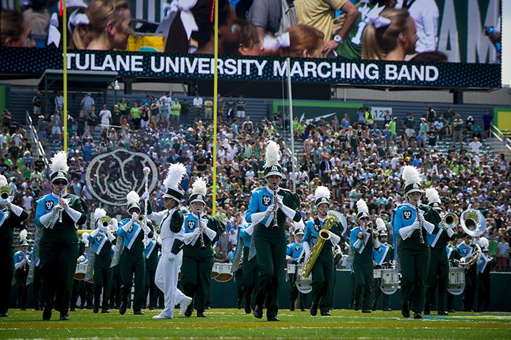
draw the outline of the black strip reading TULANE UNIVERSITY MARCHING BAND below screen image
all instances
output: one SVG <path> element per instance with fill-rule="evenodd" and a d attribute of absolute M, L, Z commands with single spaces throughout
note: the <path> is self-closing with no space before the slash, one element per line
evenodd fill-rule
<path fill-rule="evenodd" d="M 62 51 L 0 48 L 2 74 L 41 76 L 62 69 Z M 77 71 L 117 71 L 146 78 L 213 78 L 211 55 L 70 50 L 67 67 Z M 218 59 L 218 76 L 234 80 L 293 81 L 447 88 L 498 88 L 500 64 L 382 62 L 351 59 L 229 57 Z"/>

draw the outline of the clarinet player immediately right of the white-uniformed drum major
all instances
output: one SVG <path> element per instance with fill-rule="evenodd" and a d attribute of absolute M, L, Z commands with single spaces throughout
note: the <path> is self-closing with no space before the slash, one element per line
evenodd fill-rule
<path fill-rule="evenodd" d="M 184 216 L 183 265 L 181 267 L 183 289 L 185 295 L 193 298 L 185 311 L 190 317 L 193 308 L 197 309 L 197 317 L 204 318 L 206 300 L 211 290 L 211 270 L 214 264 L 213 244 L 225 232 L 225 225 L 216 218 L 204 213 L 206 208 L 206 181 L 197 178 L 192 185 L 190 210 Z"/>

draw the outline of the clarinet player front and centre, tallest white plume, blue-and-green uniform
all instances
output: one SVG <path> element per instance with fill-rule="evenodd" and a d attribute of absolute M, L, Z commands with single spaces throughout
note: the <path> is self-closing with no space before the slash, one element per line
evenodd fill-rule
<path fill-rule="evenodd" d="M 258 254 L 259 287 L 255 294 L 253 316 L 262 318 L 262 304 L 266 302 L 268 321 L 279 321 L 279 279 L 286 261 L 286 218 L 300 222 L 300 201 L 290 190 L 279 187 L 282 167 L 279 164 L 279 146 L 269 141 L 265 153 L 265 178 L 268 185 L 252 191 L 246 222 L 253 225 L 253 243 Z"/>

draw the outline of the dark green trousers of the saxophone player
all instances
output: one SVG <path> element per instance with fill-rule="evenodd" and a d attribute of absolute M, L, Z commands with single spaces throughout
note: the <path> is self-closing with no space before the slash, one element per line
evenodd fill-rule
<path fill-rule="evenodd" d="M 334 293 L 335 267 L 329 244 L 321 250 L 312 267 L 312 306 L 318 306 L 322 312 L 330 311 Z"/>

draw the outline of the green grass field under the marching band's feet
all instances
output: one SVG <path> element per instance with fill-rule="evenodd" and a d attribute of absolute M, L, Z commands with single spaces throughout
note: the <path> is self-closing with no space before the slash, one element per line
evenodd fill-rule
<path fill-rule="evenodd" d="M 211 309 L 207 318 L 151 320 L 156 311 L 134 316 L 70 313 L 71 320 L 42 320 L 41 311 L 11 309 L 0 318 L 0 338 L 190 338 L 190 339 L 511 339 L 511 313 L 456 313 L 405 320 L 399 311 L 332 311 L 330 318 L 311 317 L 309 311 L 281 310 L 279 323 L 257 320 L 238 309 Z M 176 314 L 178 311 L 176 311 Z"/>

